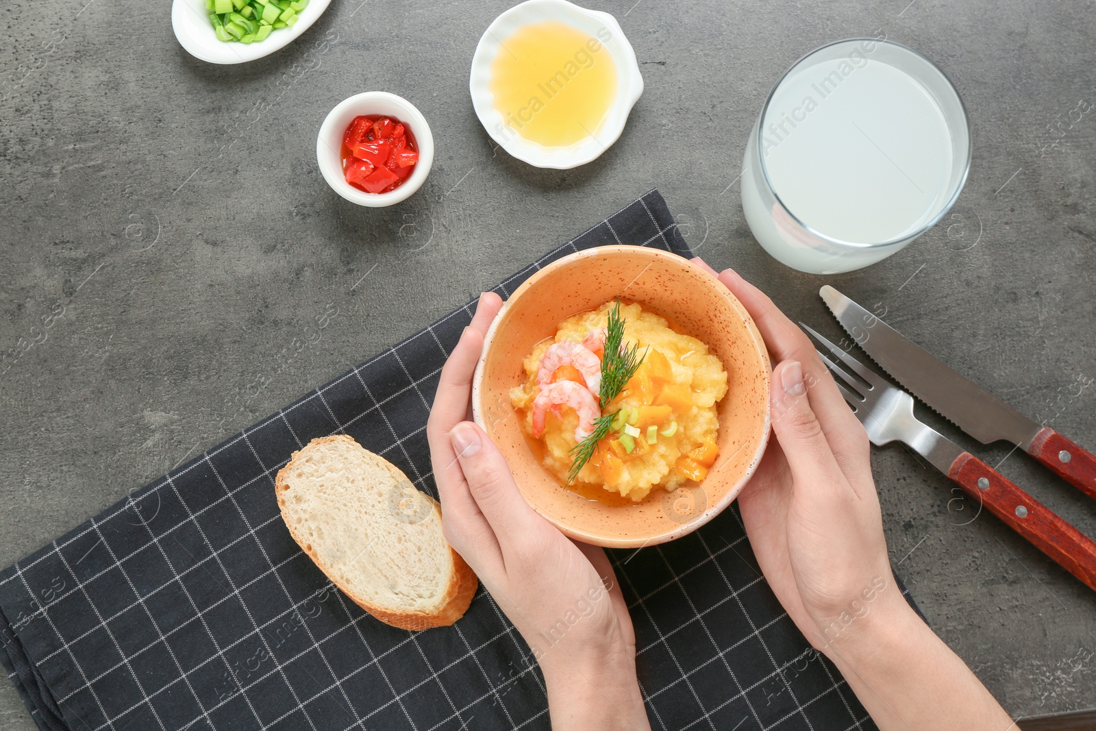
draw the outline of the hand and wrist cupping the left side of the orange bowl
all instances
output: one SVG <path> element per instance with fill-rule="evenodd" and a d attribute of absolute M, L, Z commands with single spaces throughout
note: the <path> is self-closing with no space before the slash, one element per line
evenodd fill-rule
<path fill-rule="evenodd" d="M 553 729 L 648 729 L 631 618 L 605 551 L 570 540 L 529 507 L 470 421 L 472 374 L 501 307 L 498 295 L 480 297 L 426 425 L 445 537 L 540 663 Z"/>

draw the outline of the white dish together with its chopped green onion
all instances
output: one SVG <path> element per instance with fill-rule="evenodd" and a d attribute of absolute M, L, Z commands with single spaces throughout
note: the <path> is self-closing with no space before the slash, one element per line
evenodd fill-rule
<path fill-rule="evenodd" d="M 210 64 L 242 64 L 283 48 L 331 0 L 174 0 L 171 25 L 180 45 Z"/>

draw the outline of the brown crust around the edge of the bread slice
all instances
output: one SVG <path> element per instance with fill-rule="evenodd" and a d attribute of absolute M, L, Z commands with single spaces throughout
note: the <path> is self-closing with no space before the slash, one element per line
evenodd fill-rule
<path fill-rule="evenodd" d="M 358 596 L 354 594 L 343 582 L 334 579 L 330 573 L 328 573 L 323 563 L 320 561 L 316 549 L 310 546 L 302 536 L 297 535 L 294 525 L 286 519 L 286 507 L 285 507 L 285 491 L 288 486 L 288 475 L 292 468 L 295 467 L 295 462 L 299 455 L 310 447 L 318 447 L 324 444 L 335 444 L 335 443 L 349 443 L 358 448 L 361 448 L 373 460 L 376 465 L 383 467 L 385 470 L 392 476 L 396 481 L 407 480 L 407 476 L 400 471 L 395 465 L 389 462 L 384 457 L 373 454 L 368 449 L 365 449 L 357 443 L 356 439 L 346 434 L 335 434 L 332 436 L 321 436 L 309 442 L 304 448 L 298 449 L 293 453 L 293 457 L 286 464 L 285 467 L 278 470 L 277 476 L 274 479 L 274 492 L 277 496 L 278 509 L 282 511 L 282 519 L 286 527 L 289 528 L 289 535 L 293 539 L 297 541 L 300 549 L 312 560 L 313 563 L 331 580 L 335 586 L 342 591 L 343 594 L 349 596 L 354 604 L 358 605 L 367 613 L 385 623 L 386 625 L 391 625 L 392 627 L 399 627 L 400 629 L 410 630 L 421 630 L 430 629 L 431 627 L 447 627 L 454 624 L 456 620 L 460 619 L 465 612 L 468 610 L 468 606 L 471 604 L 472 597 L 476 595 L 476 590 L 479 586 L 479 579 L 477 579 L 476 573 L 465 562 L 465 560 L 453 550 L 449 546 L 449 557 L 453 561 L 453 571 L 449 574 L 449 584 L 445 590 L 444 601 L 442 606 L 435 612 L 392 612 L 386 609 L 383 606 L 376 605 L 364 596 Z M 431 498 L 425 493 L 421 493 L 424 498 L 430 500 L 434 507 L 434 512 L 437 514 L 438 521 L 442 518 L 442 506 L 436 500 Z"/>

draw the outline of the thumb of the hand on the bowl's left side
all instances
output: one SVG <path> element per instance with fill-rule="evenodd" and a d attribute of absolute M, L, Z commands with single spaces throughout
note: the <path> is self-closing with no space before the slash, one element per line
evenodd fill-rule
<path fill-rule="evenodd" d="M 525 502 L 502 453 L 483 430 L 471 422 L 460 422 L 453 427 L 449 439 L 468 482 L 468 491 L 491 525 L 503 552 L 506 546 L 523 544 L 536 530 L 530 530 L 532 524 L 544 518 Z"/>

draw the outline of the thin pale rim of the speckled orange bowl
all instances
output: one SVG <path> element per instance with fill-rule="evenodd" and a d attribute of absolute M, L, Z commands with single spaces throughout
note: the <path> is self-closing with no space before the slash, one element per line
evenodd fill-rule
<path fill-rule="evenodd" d="M 696 263 L 685 259 L 684 256 L 676 254 L 671 251 L 664 251 L 662 249 L 652 249 L 643 245 L 635 244 L 608 244 L 603 247 L 593 247 L 591 249 L 583 249 L 576 251 L 572 254 L 568 254 L 560 259 L 557 259 L 541 269 L 534 272 L 528 278 L 526 278 L 513 294 L 506 298 L 503 302 L 502 309 L 499 310 L 499 315 L 495 316 L 494 321 L 491 322 L 491 327 L 488 329 L 487 334 L 483 338 L 483 349 L 480 351 L 479 359 L 476 363 L 476 373 L 472 376 L 472 418 L 476 424 L 483 429 L 484 431 L 484 420 L 482 415 L 482 409 L 480 407 L 483 375 L 487 364 L 488 352 L 491 347 L 491 343 L 494 341 L 494 335 L 499 330 L 499 327 L 503 320 L 503 316 L 506 310 L 515 302 L 522 295 L 527 293 L 537 282 L 545 278 L 548 274 L 555 270 L 568 266 L 575 261 L 581 261 L 583 259 L 592 259 L 598 255 L 619 255 L 629 254 L 637 255 L 640 258 L 659 259 L 669 258 L 671 260 L 678 260 L 686 267 L 694 267 L 697 272 L 704 275 L 704 281 L 712 285 L 711 292 L 718 296 L 724 297 L 734 308 L 734 310 L 742 317 L 743 324 L 745 324 L 747 332 L 750 333 L 751 340 L 753 342 L 754 350 L 761 357 L 763 368 L 762 377 L 764 379 L 764 390 L 765 390 L 765 418 L 763 420 L 763 425 L 761 429 L 761 438 L 757 443 L 757 448 L 755 449 L 753 456 L 750 459 L 750 464 L 746 467 L 742 476 L 735 481 L 735 483 L 727 491 L 719 501 L 708 505 L 704 513 L 701 513 L 696 518 L 677 525 L 676 527 L 655 536 L 648 537 L 647 539 L 640 540 L 638 538 L 612 538 L 602 535 L 594 535 L 585 533 L 582 530 L 576 530 L 570 526 L 562 525 L 558 523 L 552 516 L 546 515 L 535 505 L 530 504 L 534 511 L 541 517 L 544 517 L 548 523 L 553 525 L 563 535 L 580 540 L 582 542 L 591 544 L 594 546 L 602 546 L 604 548 L 641 548 L 644 546 L 657 546 L 659 544 L 664 544 L 670 540 L 675 540 L 681 538 L 694 530 L 697 530 L 701 526 L 708 524 L 712 518 L 722 513 L 727 507 L 734 502 L 734 500 L 741 494 L 742 490 L 745 488 L 746 483 L 753 478 L 754 473 L 757 471 L 757 466 L 761 464 L 762 457 L 765 454 L 765 449 L 768 446 L 768 439 L 772 435 L 773 426 L 773 408 L 772 408 L 772 382 L 773 382 L 773 367 L 772 362 L 768 356 L 768 349 L 765 344 L 765 340 L 761 335 L 761 331 L 757 329 L 757 324 L 754 322 L 753 317 L 746 311 L 746 308 L 742 305 L 741 300 L 734 296 L 730 289 L 728 289 L 722 283 L 720 283 L 716 277 L 711 276 L 711 273 L 706 271 L 704 267 L 697 265 Z M 706 343 L 707 344 L 707 343 Z M 704 484 L 701 481 L 699 484 Z M 524 495 L 523 495 L 524 498 Z"/>

